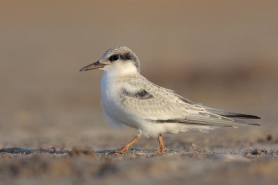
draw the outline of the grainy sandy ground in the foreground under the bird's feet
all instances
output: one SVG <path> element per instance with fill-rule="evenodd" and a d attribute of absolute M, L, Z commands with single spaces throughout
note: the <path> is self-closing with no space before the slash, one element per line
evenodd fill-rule
<path fill-rule="evenodd" d="M 123 155 L 90 147 L 3 148 L 1 184 L 277 183 L 277 139 L 227 142 L 190 137 L 194 138 L 203 141 L 168 139 L 174 149 L 163 154 L 139 147 Z"/>

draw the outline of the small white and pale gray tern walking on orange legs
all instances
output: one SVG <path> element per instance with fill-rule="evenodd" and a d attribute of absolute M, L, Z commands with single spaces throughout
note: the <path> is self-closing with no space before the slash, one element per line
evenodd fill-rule
<path fill-rule="evenodd" d="M 154 152 L 162 153 L 167 150 L 163 134 L 259 125 L 244 121 L 259 119 L 259 116 L 194 103 L 170 89 L 150 82 L 140 74 L 139 58 L 126 46 L 108 49 L 97 62 L 80 71 L 92 69 L 104 71 L 101 79 L 101 105 L 106 120 L 138 130 L 138 134 L 129 143 L 113 153 L 127 152 L 142 136 L 158 137 L 159 149 Z"/>

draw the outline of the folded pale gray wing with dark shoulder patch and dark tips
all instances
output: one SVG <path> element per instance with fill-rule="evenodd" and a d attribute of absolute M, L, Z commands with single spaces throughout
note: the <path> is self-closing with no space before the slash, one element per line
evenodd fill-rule
<path fill-rule="evenodd" d="M 140 115 L 140 118 L 155 123 L 183 123 L 225 127 L 258 125 L 240 120 L 240 118 L 259 118 L 257 116 L 226 112 L 193 103 L 175 94 L 170 89 L 165 89 L 149 82 L 143 76 L 129 78 L 126 83 L 132 88 L 122 89 L 121 98 L 124 107 L 136 112 L 136 115 Z"/>

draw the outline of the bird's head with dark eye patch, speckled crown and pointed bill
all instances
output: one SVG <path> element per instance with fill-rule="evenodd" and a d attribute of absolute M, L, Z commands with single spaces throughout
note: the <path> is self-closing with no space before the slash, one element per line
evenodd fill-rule
<path fill-rule="evenodd" d="M 131 49 L 125 46 L 120 46 L 108 49 L 97 62 L 83 67 L 80 71 L 88 71 L 92 69 L 139 73 L 140 61 Z"/>

